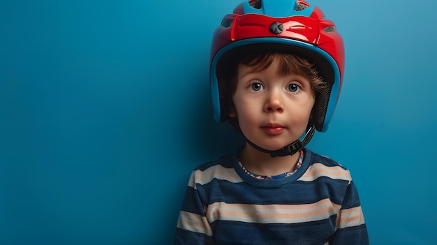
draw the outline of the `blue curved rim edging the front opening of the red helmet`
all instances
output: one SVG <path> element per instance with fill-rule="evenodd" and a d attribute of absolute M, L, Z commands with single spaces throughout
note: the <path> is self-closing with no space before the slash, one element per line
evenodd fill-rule
<path fill-rule="evenodd" d="M 323 128 L 321 132 L 327 131 L 329 121 L 332 119 L 332 114 L 334 114 L 336 101 L 339 98 L 340 94 L 340 71 L 339 67 L 336 64 L 336 61 L 334 58 L 332 58 L 331 55 L 329 55 L 327 52 L 321 50 L 320 48 L 316 47 L 315 45 L 304 43 L 299 40 L 292 40 L 288 38 L 250 38 L 250 39 L 244 39 L 244 40 L 238 40 L 234 43 L 230 43 L 229 45 L 226 45 L 221 48 L 221 50 L 218 50 L 214 58 L 212 59 L 211 64 L 211 70 L 209 72 L 209 81 L 211 82 L 211 94 L 212 94 L 212 105 L 214 110 L 214 119 L 216 121 L 221 121 L 221 103 L 220 103 L 220 96 L 219 96 L 219 89 L 218 89 L 218 80 L 216 77 L 216 68 L 218 61 L 221 59 L 223 54 L 226 52 L 233 50 L 237 47 L 241 47 L 244 45 L 251 45 L 251 44 L 257 44 L 257 43 L 279 43 L 279 44 L 286 44 L 286 45 L 293 45 L 296 47 L 303 47 L 306 50 L 310 50 L 312 52 L 315 52 L 316 54 L 319 54 L 321 57 L 323 57 L 328 63 L 332 66 L 332 71 L 334 75 L 334 82 L 332 84 L 331 94 L 329 95 L 329 103 L 327 105 L 327 111 L 325 115 L 325 121 L 323 123 Z"/>

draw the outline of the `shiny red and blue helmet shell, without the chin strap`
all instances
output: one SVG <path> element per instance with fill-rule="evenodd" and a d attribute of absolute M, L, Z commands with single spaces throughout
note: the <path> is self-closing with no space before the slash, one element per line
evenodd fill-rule
<path fill-rule="evenodd" d="M 225 15 L 211 45 L 210 82 L 216 121 L 228 119 L 228 98 L 218 79 L 226 57 L 238 50 L 267 49 L 298 54 L 316 64 L 329 86 L 316 98 L 313 124 L 325 132 L 339 98 L 344 70 L 343 39 L 320 8 L 302 0 L 249 0 Z"/>

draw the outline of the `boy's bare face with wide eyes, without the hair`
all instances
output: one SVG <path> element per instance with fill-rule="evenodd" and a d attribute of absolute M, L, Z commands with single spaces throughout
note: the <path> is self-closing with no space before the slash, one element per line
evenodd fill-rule
<path fill-rule="evenodd" d="M 255 71 L 238 65 L 237 84 L 230 117 L 237 117 L 244 136 L 271 151 L 299 139 L 311 117 L 315 98 L 308 78 L 289 74 L 279 76 L 279 61 Z"/>

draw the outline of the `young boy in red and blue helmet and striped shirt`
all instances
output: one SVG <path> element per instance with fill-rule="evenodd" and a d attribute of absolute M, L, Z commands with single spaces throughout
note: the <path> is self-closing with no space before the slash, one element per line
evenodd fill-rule
<path fill-rule="evenodd" d="M 369 244 L 349 171 L 304 146 L 326 131 L 341 89 L 343 41 L 301 0 L 251 0 L 212 42 L 214 116 L 246 145 L 200 165 L 175 244 Z"/>

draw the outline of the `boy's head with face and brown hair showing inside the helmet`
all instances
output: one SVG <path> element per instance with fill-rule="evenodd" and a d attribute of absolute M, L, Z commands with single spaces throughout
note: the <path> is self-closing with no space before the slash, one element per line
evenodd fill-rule
<path fill-rule="evenodd" d="M 292 54 L 262 53 L 237 61 L 230 73 L 229 121 L 248 142 L 275 151 L 299 140 L 311 119 L 316 88 L 313 66 Z"/>

